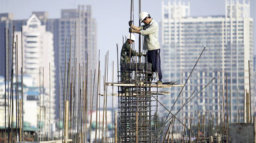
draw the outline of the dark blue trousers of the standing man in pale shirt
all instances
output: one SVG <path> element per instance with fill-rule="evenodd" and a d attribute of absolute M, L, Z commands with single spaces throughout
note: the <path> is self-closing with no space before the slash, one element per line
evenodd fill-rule
<path fill-rule="evenodd" d="M 159 80 L 162 82 L 160 49 L 147 51 L 147 62 L 152 64 L 152 72 L 158 72 Z M 152 75 L 148 75 L 152 76 Z"/>

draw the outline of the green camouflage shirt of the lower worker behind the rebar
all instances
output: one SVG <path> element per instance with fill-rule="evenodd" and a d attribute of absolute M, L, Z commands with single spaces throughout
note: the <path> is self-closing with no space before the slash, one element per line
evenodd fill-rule
<path fill-rule="evenodd" d="M 125 52 L 126 52 L 126 55 L 125 55 Z M 130 52 L 130 44 L 126 41 L 121 50 L 120 64 L 129 62 L 129 52 Z M 138 56 L 138 53 L 136 53 L 134 50 L 131 49 L 131 57 L 136 55 Z"/>

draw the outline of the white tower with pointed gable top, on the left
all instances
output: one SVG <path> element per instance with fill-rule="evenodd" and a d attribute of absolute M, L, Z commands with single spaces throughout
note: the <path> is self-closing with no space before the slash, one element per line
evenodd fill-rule
<path fill-rule="evenodd" d="M 45 25 L 41 25 L 41 21 L 35 14 L 32 14 L 32 16 L 27 20 L 26 25 L 23 25 L 22 28 L 23 40 L 21 40 L 21 32 L 14 33 L 15 37 L 18 36 L 18 41 L 15 38 L 15 43 L 18 43 L 17 52 L 14 50 L 13 55 L 14 71 L 16 71 L 15 59 L 17 56 L 16 53 L 18 53 L 18 74 L 21 75 L 21 67 L 23 66 L 23 75 L 29 75 L 32 77 L 33 86 L 41 86 L 41 94 L 43 95 L 44 93 L 45 96 L 47 95 L 48 99 L 47 102 L 44 101 L 44 105 L 46 109 L 48 109 L 46 110 L 46 113 L 48 112 L 46 115 L 49 115 L 49 111 L 51 111 L 51 121 L 55 124 L 56 73 L 53 50 L 53 33 L 46 31 Z M 23 51 L 21 46 L 23 46 Z M 40 68 L 41 70 L 39 71 Z M 49 96 L 51 106 L 49 104 Z M 41 105 L 43 105 L 42 103 Z M 51 110 L 49 110 L 49 108 Z M 46 116 L 46 118 L 49 119 L 49 116 Z"/>

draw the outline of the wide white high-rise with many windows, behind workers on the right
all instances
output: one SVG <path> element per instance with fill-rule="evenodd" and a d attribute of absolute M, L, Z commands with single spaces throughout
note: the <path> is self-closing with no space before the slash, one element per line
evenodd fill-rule
<path fill-rule="evenodd" d="M 231 1 L 226 2 L 226 13 L 223 16 L 190 17 L 189 4 L 162 2 L 161 53 L 164 81 L 184 84 L 203 47 L 206 47 L 172 113 L 181 108 L 194 90 L 197 93 L 216 78 L 202 92 L 197 95 L 194 93 L 196 97 L 182 108 L 180 114 L 184 117 L 194 115 L 196 110 L 209 110 L 213 111 L 215 117 L 217 115 L 220 117 L 219 102 L 222 103 L 222 98 L 219 101 L 219 97 L 222 97 L 222 85 L 226 103 L 226 74 L 227 91 L 228 95 L 231 95 L 232 118 L 237 114 L 237 109 L 241 110 L 244 89 L 249 92 L 249 60 L 251 88 L 254 87 L 253 21 L 249 15 L 249 7 L 250 5 L 245 4 L 245 1 L 242 4 Z M 218 92 L 218 75 L 220 92 Z M 171 109 L 180 91 L 181 88 L 170 89 L 170 96 L 161 96 L 162 103 Z M 251 89 L 252 95 L 253 92 Z M 164 113 L 162 116 L 168 114 L 163 108 L 160 111 Z"/>

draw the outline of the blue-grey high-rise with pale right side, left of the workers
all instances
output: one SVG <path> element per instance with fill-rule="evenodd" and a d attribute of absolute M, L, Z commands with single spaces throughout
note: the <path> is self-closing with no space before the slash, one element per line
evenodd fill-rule
<path fill-rule="evenodd" d="M 76 22 L 76 28 L 75 28 L 75 22 Z M 93 77 L 93 75 L 90 74 L 90 70 L 92 70 L 92 73 L 94 74 L 94 69 L 97 68 L 98 56 L 96 54 L 97 52 L 96 24 L 94 19 L 91 17 L 91 7 L 78 6 L 78 9 L 62 10 L 61 18 L 59 19 L 58 24 L 59 24 L 58 26 L 59 47 L 58 47 L 58 55 L 57 55 L 58 65 L 56 66 L 57 68 L 59 68 L 59 71 L 60 71 L 60 66 L 62 67 L 62 70 L 59 72 L 59 78 L 58 78 L 59 84 L 60 84 L 60 95 L 63 95 L 63 89 L 64 89 L 65 95 L 68 95 L 68 97 L 70 97 L 70 93 L 67 92 L 67 87 L 68 87 L 67 85 L 70 85 L 70 82 L 72 79 L 71 78 L 72 75 L 70 73 L 72 72 L 72 68 L 73 68 L 73 73 L 76 72 L 76 76 L 75 75 L 73 76 L 73 84 L 74 83 L 76 84 L 75 84 L 75 90 L 73 90 L 72 94 L 73 96 L 76 96 L 76 101 L 78 101 L 79 98 L 77 97 L 79 97 L 80 87 L 82 88 L 81 90 L 82 95 L 84 91 L 83 83 L 82 83 L 83 81 L 80 82 L 81 84 L 79 84 L 79 69 L 80 69 L 80 72 L 83 73 L 82 75 L 80 74 L 81 79 L 85 79 L 86 75 L 84 73 L 87 66 L 87 54 L 89 54 L 88 55 L 87 93 L 90 93 L 90 85 L 91 85 L 90 77 Z M 71 44 L 70 44 L 70 40 L 71 40 Z M 65 49 L 66 47 L 65 43 L 67 43 L 67 50 Z M 67 51 L 66 59 L 65 59 L 65 51 Z M 65 65 L 67 67 L 66 73 L 64 72 Z M 68 76 L 69 79 L 67 79 L 68 66 L 70 66 L 70 71 Z M 63 76 L 63 82 L 62 82 L 61 72 Z M 66 79 L 64 79 L 64 75 L 66 75 Z M 62 83 L 64 83 L 64 86 L 65 86 L 64 88 Z M 63 100 L 62 97 L 63 96 L 61 96 L 60 98 L 61 101 Z M 90 97 L 90 96 L 87 96 L 87 97 Z M 87 99 L 88 101 L 90 101 L 90 98 L 87 98 Z M 90 107 L 90 104 L 88 104 L 88 107 Z M 78 109 L 78 107 L 76 107 L 76 109 Z"/>

